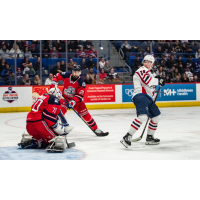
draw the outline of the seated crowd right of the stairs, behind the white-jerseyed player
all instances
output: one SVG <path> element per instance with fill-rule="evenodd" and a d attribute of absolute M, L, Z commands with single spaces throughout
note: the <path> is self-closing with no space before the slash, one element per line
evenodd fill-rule
<path fill-rule="evenodd" d="M 152 42 L 152 52 L 150 52 L 150 42 Z M 128 41 L 125 41 L 121 45 L 121 49 L 125 55 L 127 52 L 133 52 L 135 55 L 131 66 L 133 74 L 142 66 L 144 56 L 151 54 L 155 57 L 153 72 L 166 77 L 167 83 L 199 82 L 200 43 L 197 40 L 143 41 L 140 48 L 131 46 Z M 187 59 L 183 61 L 182 58 Z M 194 62 L 194 58 L 198 58 L 198 60 L 195 59 L 197 61 Z M 128 58 L 125 57 L 125 59 Z"/>

